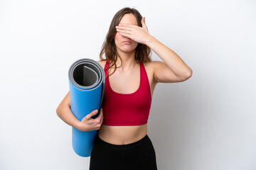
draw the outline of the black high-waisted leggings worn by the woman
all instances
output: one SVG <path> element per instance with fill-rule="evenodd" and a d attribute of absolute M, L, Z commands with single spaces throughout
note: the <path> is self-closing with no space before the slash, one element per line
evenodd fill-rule
<path fill-rule="evenodd" d="M 157 170 L 156 153 L 149 136 L 127 145 L 113 145 L 96 135 L 90 170 Z"/>

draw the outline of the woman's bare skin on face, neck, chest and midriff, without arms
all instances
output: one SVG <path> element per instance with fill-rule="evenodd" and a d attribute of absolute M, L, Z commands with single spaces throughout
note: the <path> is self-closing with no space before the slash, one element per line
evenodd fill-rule
<path fill-rule="evenodd" d="M 132 14 L 125 14 L 120 23 L 130 23 L 135 26 L 137 25 L 137 19 Z M 125 44 L 123 41 L 129 40 L 132 42 L 131 45 Z M 135 62 L 135 49 L 138 42 L 127 38 L 117 32 L 114 37 L 114 42 L 117 46 L 117 52 L 120 57 L 122 57 L 122 66 L 117 68 L 117 70 L 112 74 L 110 79 L 110 86 L 113 91 L 119 94 L 131 94 L 137 91 L 139 88 L 139 64 Z M 99 62 L 102 67 L 105 67 L 105 62 Z M 119 67 L 121 61 L 117 59 L 117 67 Z M 146 64 L 147 66 L 147 64 Z M 156 81 L 153 77 L 153 70 L 149 67 L 145 67 L 146 72 L 149 73 L 149 82 L 151 84 L 151 96 L 153 95 L 154 87 L 156 86 Z M 114 69 L 110 70 L 112 73 Z M 128 143 L 135 142 L 142 139 L 147 132 L 147 124 L 145 125 L 134 125 L 134 126 L 108 126 L 101 125 L 99 130 L 99 137 L 106 142 L 115 145 L 124 145 Z"/>

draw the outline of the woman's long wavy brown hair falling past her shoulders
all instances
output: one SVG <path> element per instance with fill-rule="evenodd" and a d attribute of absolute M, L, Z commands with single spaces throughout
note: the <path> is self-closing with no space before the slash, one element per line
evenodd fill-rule
<path fill-rule="evenodd" d="M 116 30 L 116 26 L 119 25 L 119 22 L 122 19 L 122 16 L 124 16 L 124 14 L 126 13 L 132 13 L 136 18 L 137 18 L 137 23 L 138 26 L 142 27 L 142 15 L 139 13 L 139 11 L 137 11 L 137 9 L 135 8 L 129 8 L 129 7 L 125 7 L 120 9 L 119 11 L 117 11 L 117 13 L 114 15 L 114 17 L 112 18 L 111 24 L 110 24 L 110 29 L 107 33 L 107 36 L 105 38 L 105 41 L 103 42 L 102 45 L 102 49 L 100 50 L 100 60 L 101 61 L 110 61 L 110 67 L 112 67 L 114 65 L 114 72 L 117 69 L 117 57 L 119 57 L 118 53 L 117 53 L 117 46 L 114 43 L 114 35 L 116 35 L 117 30 Z M 151 49 L 150 47 L 148 47 L 147 45 L 144 45 L 142 43 L 138 43 L 136 49 L 135 49 L 135 60 L 138 63 L 142 63 L 144 64 L 145 62 L 151 62 Z M 105 53 L 105 57 L 106 59 L 102 58 L 102 55 Z M 122 59 L 121 57 L 119 57 L 122 63 Z M 108 67 L 108 69 L 110 69 L 110 67 Z M 107 76 L 109 70 L 107 70 Z M 107 78 L 107 77 L 106 77 Z"/>

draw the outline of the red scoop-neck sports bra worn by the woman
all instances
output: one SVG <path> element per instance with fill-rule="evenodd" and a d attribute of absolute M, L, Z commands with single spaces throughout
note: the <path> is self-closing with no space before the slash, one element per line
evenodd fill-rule
<path fill-rule="evenodd" d="M 105 75 L 110 62 L 105 64 Z M 111 89 L 110 79 L 105 80 L 105 91 L 102 101 L 102 125 L 144 125 L 149 118 L 151 108 L 151 91 L 146 69 L 139 63 L 139 89 L 132 94 L 119 94 Z"/>

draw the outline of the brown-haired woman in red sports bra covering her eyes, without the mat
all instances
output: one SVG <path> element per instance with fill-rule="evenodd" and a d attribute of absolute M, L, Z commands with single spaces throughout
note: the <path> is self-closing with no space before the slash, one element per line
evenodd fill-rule
<path fill-rule="evenodd" d="M 151 61 L 151 50 L 164 62 Z M 97 114 L 92 111 L 81 121 L 75 118 L 68 92 L 57 108 L 58 116 L 78 130 L 98 130 L 90 170 L 157 169 L 154 147 L 147 135 L 151 96 L 157 83 L 191 77 L 191 68 L 149 35 L 145 18 L 134 8 L 122 8 L 115 14 L 100 59 L 97 62 L 106 75 L 100 115 L 91 118 Z"/>

